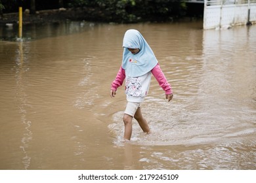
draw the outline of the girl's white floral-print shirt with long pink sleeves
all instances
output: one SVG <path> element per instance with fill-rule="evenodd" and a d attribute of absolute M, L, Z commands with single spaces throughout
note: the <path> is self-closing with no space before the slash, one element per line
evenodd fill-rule
<path fill-rule="evenodd" d="M 165 75 L 163 74 L 163 72 L 161 71 L 161 68 L 160 68 L 160 65 L 157 64 L 152 70 L 151 70 L 151 73 L 152 75 L 154 75 L 154 77 L 156 78 L 156 80 L 158 81 L 158 84 L 161 86 L 161 88 L 165 91 L 165 94 L 171 94 L 173 93 L 172 90 L 171 90 L 171 85 L 167 82 L 167 79 L 165 78 Z M 143 76 L 142 76 L 143 77 Z M 148 80 L 147 78 L 149 78 L 150 76 L 144 76 L 144 78 L 142 78 L 141 80 Z M 140 82 L 137 81 L 137 78 L 134 79 L 134 78 L 130 78 L 130 77 L 127 77 L 125 76 L 125 69 L 123 69 L 122 67 L 120 67 L 117 75 L 116 75 L 116 78 L 115 80 L 112 82 L 112 85 L 111 85 L 111 90 L 117 90 L 117 88 L 119 86 L 121 86 L 123 84 L 123 80 L 125 80 L 126 78 L 126 83 L 125 83 L 125 90 L 126 90 L 126 94 L 127 94 L 127 100 L 128 101 L 134 101 L 134 102 L 141 102 L 143 101 L 144 99 L 144 96 L 146 96 L 147 94 L 147 91 L 148 91 L 148 88 L 149 88 L 149 85 L 150 85 L 150 80 L 147 81 L 147 82 L 144 82 L 146 83 L 148 86 L 143 86 L 144 88 L 147 88 L 146 89 L 146 93 L 145 95 L 140 95 L 140 94 L 137 94 L 138 91 L 143 87 L 140 86 Z M 133 88 L 135 88 L 135 90 L 137 91 L 137 93 L 132 93 L 129 92 L 129 91 L 135 91 L 133 89 L 131 89 L 131 85 L 130 83 L 133 84 Z M 142 81 L 143 83 L 143 81 Z M 131 90 L 130 90 L 131 89 Z M 133 95 L 133 96 L 131 96 Z M 135 96 L 137 95 L 137 96 Z M 142 99 L 138 100 L 137 98 L 140 97 Z"/>

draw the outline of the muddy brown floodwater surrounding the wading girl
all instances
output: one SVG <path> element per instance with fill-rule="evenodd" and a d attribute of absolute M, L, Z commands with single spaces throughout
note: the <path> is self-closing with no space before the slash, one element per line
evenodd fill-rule
<path fill-rule="evenodd" d="M 131 28 L 154 50 L 174 97 L 167 103 L 152 76 L 142 104 L 152 134 L 133 121 L 123 143 L 125 93 L 112 99 L 110 84 Z M 0 41 L 0 169 L 256 169 L 255 25 L 70 22 L 24 37 Z"/>

